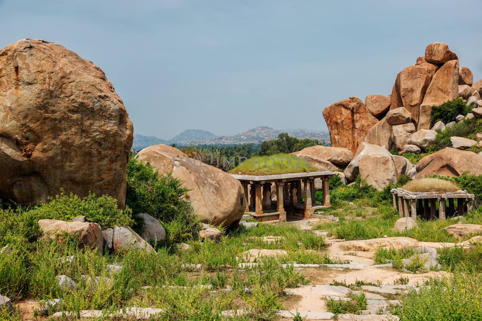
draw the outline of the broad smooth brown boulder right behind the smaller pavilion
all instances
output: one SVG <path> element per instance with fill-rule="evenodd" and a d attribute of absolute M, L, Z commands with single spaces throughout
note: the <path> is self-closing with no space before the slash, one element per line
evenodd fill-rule
<path fill-rule="evenodd" d="M 482 156 L 455 148 L 444 148 L 420 159 L 416 165 L 415 179 L 442 175 L 456 177 L 469 171 L 482 174 Z"/>

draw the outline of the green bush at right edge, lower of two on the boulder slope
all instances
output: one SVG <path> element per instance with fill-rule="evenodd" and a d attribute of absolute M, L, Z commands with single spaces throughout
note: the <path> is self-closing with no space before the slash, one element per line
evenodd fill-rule
<path fill-rule="evenodd" d="M 482 132 L 482 121 L 477 118 L 464 119 L 452 126 L 445 128 L 443 131 L 437 130 L 435 136 L 435 143 L 433 144 L 434 151 L 440 151 L 445 147 L 452 147 L 450 138 L 452 136 L 464 137 L 475 140 L 475 135 Z"/>

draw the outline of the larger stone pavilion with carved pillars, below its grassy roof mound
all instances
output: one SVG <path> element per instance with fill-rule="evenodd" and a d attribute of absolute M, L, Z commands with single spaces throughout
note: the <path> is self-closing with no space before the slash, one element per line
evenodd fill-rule
<path fill-rule="evenodd" d="M 277 175 L 234 175 L 244 187 L 246 212 L 258 221 L 279 222 L 286 218 L 311 218 L 315 210 L 330 207 L 328 180 L 331 171 L 304 172 Z M 315 203 L 315 179 L 321 179 L 323 204 Z M 271 185 L 276 187 L 272 200 Z M 303 202 L 302 196 L 305 201 Z"/>

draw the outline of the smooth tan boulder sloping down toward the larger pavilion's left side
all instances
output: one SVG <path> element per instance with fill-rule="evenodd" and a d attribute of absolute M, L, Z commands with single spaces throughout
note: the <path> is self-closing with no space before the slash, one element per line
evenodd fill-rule
<path fill-rule="evenodd" d="M 167 145 L 149 146 L 137 154 L 161 174 L 172 175 L 183 181 L 192 206 L 205 222 L 225 226 L 240 221 L 246 207 L 243 187 L 239 180 L 222 170 L 200 164 L 180 150 Z M 175 165 L 175 166 L 174 166 Z"/>

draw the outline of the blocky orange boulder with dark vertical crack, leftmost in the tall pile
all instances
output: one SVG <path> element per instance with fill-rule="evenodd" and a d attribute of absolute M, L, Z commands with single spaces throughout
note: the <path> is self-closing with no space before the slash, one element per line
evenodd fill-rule
<path fill-rule="evenodd" d="M 347 148 L 355 153 L 366 134 L 378 122 L 357 97 L 340 100 L 323 109 L 333 147 Z"/>

